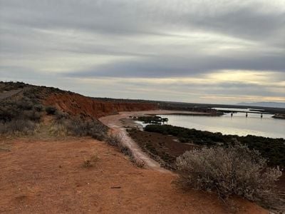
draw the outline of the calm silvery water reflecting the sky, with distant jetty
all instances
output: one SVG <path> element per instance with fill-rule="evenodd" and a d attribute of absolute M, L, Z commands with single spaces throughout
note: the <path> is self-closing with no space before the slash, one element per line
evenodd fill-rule
<path fill-rule="evenodd" d="M 224 108 L 225 109 L 225 108 Z M 229 109 L 231 110 L 231 109 Z M 241 111 L 241 109 L 236 109 Z M 244 109 L 243 109 L 244 110 Z M 230 113 L 224 116 L 178 116 L 178 115 L 159 115 L 168 118 L 168 124 L 182 126 L 185 128 L 195 128 L 202 131 L 220 132 L 223 134 L 234 134 L 238 136 L 264 136 L 269 138 L 285 138 L 285 120 L 271 118 L 273 115 Z"/>

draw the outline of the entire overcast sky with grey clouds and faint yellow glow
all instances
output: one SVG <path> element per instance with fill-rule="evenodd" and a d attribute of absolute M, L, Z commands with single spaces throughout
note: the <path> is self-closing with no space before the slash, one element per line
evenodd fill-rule
<path fill-rule="evenodd" d="M 0 80 L 95 97 L 285 102 L 285 1 L 0 0 Z"/>

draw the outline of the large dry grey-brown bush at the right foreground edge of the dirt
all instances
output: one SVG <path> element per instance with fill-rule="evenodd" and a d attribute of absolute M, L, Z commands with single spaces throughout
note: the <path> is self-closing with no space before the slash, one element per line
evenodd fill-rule
<path fill-rule="evenodd" d="M 221 198 L 236 194 L 262 205 L 277 199 L 275 182 L 279 168 L 269 168 L 257 151 L 235 143 L 227 148 L 214 147 L 186 151 L 177 158 L 180 183 L 200 190 L 212 190 Z"/>

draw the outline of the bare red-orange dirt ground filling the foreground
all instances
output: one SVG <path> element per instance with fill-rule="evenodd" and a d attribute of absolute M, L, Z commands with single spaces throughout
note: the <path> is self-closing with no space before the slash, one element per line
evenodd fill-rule
<path fill-rule="evenodd" d="M 175 175 L 135 167 L 91 138 L 11 140 L 0 151 L 0 213 L 230 213 L 216 196 L 182 191 Z M 92 168 L 85 158 L 98 155 Z M 112 188 L 120 187 L 120 188 Z M 242 199 L 237 213 L 268 213 Z"/>

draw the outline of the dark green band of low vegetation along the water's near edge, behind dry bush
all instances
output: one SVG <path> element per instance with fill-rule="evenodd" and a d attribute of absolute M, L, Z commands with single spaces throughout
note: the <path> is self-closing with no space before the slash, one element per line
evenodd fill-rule
<path fill-rule="evenodd" d="M 147 125 L 145 131 L 175 136 L 181 143 L 193 143 L 199 146 L 228 146 L 239 141 L 250 149 L 259 151 L 261 156 L 269 161 L 269 165 L 285 167 L 285 140 L 283 138 L 223 135 L 171 125 Z"/>

